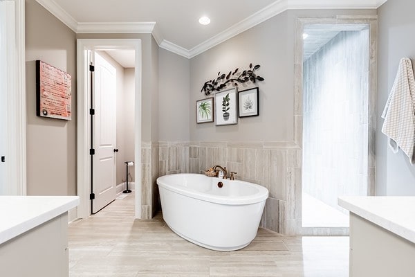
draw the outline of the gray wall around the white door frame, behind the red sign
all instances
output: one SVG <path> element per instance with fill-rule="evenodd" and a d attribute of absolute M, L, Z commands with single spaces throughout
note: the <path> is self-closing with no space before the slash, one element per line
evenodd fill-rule
<path fill-rule="evenodd" d="M 76 39 L 142 39 L 142 140 L 158 141 L 158 46 L 150 34 L 75 34 L 35 0 L 26 0 L 28 195 L 76 195 Z M 72 76 L 72 120 L 38 118 L 35 60 Z M 155 63 L 152 65 L 152 63 Z M 156 130 L 151 132 L 152 128 Z M 153 137 L 151 137 L 153 136 Z"/>

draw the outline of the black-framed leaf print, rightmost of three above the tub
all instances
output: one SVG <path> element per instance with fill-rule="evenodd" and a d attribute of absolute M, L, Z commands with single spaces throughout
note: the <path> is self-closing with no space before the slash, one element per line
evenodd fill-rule
<path fill-rule="evenodd" d="M 259 89 L 245 89 L 238 93 L 238 116 L 259 116 Z"/>

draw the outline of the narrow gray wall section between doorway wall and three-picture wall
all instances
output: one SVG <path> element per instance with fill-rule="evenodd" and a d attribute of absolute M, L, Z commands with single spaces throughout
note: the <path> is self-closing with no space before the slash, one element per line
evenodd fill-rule
<path fill-rule="evenodd" d="M 159 140 L 189 141 L 190 60 L 158 50 Z"/>

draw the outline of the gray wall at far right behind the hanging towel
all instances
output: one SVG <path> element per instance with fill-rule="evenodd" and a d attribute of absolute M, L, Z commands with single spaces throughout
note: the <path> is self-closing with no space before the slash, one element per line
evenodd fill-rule
<path fill-rule="evenodd" d="M 387 146 L 382 134 L 380 114 L 396 77 L 399 60 L 410 57 L 415 62 L 414 1 L 387 1 L 378 9 L 378 121 L 376 136 L 377 195 L 415 195 L 415 166 L 401 150 L 397 154 Z"/>

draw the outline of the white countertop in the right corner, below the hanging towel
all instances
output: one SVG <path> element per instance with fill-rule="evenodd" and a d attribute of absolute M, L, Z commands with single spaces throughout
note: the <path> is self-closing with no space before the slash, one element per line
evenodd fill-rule
<path fill-rule="evenodd" d="M 351 213 L 415 243 L 415 197 L 339 197 L 338 204 Z"/>

